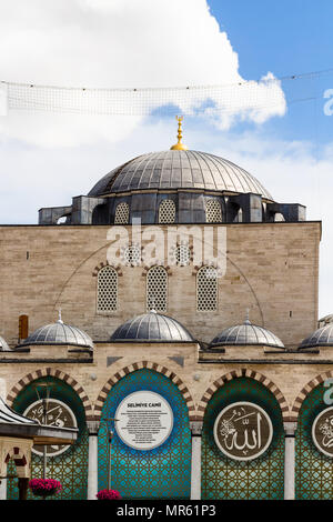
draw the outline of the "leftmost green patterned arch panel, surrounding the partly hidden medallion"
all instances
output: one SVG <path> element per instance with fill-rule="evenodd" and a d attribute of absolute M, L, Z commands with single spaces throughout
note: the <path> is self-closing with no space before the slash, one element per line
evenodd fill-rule
<path fill-rule="evenodd" d="M 50 396 L 69 405 L 75 415 L 79 428 L 78 440 L 74 444 L 70 445 L 64 453 L 58 456 L 48 455 L 47 478 L 59 480 L 62 484 L 61 492 L 52 496 L 52 500 L 85 500 L 88 486 L 88 430 L 82 402 L 72 388 L 65 382 L 52 377 L 47 377 L 33 381 L 33 384 L 38 383 L 40 380 L 53 382 L 54 387 L 51 389 Z M 36 400 L 36 390 L 29 384 L 14 400 L 13 409 L 19 413 L 23 413 Z M 11 466 L 8 466 L 8 473 L 12 474 L 13 472 L 14 466 L 11 464 Z M 32 453 L 31 479 L 41 478 L 42 455 Z M 8 499 L 18 499 L 16 479 L 8 481 Z M 33 496 L 29 490 L 28 499 L 39 498 Z"/>

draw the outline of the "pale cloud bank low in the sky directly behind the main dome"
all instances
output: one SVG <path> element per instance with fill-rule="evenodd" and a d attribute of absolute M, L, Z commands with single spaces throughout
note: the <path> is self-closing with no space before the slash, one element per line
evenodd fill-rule
<path fill-rule="evenodd" d="M 262 133 L 202 132 L 185 122 L 184 141 L 192 149 L 230 159 L 255 175 L 275 201 L 307 207 L 309 220 L 323 221 L 320 255 L 320 315 L 332 313 L 333 282 L 331 259 L 333 241 L 332 155 L 327 144 L 317 159 L 309 142 L 272 141 Z M 171 138 L 170 138 L 171 137 Z M 172 121 L 147 122 L 140 132 L 132 129 L 118 143 L 72 149 L 43 150 L 8 141 L 2 147 L 0 223 L 36 223 L 40 207 L 71 203 L 73 195 L 85 194 L 107 172 L 144 152 L 165 150 L 175 141 Z"/>

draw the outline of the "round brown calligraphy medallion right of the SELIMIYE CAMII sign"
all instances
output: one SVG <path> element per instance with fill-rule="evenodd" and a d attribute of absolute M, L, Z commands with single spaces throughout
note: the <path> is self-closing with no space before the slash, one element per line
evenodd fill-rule
<path fill-rule="evenodd" d="M 262 455 L 272 442 L 273 425 L 268 413 L 252 402 L 224 408 L 214 423 L 218 448 L 230 459 L 250 461 Z"/>

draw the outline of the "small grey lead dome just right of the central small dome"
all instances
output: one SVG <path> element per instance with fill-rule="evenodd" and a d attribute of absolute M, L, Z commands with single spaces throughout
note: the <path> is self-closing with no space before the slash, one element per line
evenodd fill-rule
<path fill-rule="evenodd" d="M 209 348 L 251 344 L 284 349 L 283 342 L 274 333 L 263 327 L 252 324 L 249 320 L 245 320 L 243 324 L 223 330 L 212 340 Z"/>

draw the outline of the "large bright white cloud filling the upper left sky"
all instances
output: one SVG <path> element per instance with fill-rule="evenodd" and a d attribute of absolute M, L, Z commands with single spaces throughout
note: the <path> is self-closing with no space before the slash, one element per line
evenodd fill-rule
<path fill-rule="evenodd" d="M 56 86 L 145 88 L 226 84 L 178 100 L 181 111 L 205 109 L 219 128 L 262 123 L 285 112 L 279 82 L 268 73 L 244 81 L 236 52 L 206 0 L 11 0 L 0 4 L 0 70 L 8 81 Z M 235 89 L 234 84 L 243 84 Z M 70 96 L 70 92 L 67 93 Z M 154 93 L 147 103 L 157 107 Z M 42 147 L 121 140 L 137 118 L 11 112 L 0 133 Z M 29 133 L 27 133 L 29 128 Z"/>

